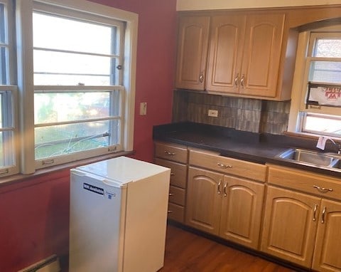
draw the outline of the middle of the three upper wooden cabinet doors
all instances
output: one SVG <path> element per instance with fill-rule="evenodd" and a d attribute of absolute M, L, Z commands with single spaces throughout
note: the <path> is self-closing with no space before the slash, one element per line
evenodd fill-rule
<path fill-rule="evenodd" d="M 238 93 L 246 16 L 214 16 L 210 28 L 207 90 Z"/>

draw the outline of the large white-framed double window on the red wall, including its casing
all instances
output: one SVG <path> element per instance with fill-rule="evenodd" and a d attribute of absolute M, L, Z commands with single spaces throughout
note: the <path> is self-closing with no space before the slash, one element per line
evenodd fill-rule
<path fill-rule="evenodd" d="M 0 176 L 132 150 L 137 19 L 80 0 L 0 0 Z"/>

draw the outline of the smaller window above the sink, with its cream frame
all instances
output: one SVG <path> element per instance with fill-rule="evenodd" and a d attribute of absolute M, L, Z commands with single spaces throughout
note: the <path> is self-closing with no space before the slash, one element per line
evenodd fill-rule
<path fill-rule="evenodd" d="M 289 130 L 341 137 L 340 26 L 301 33 L 299 46 Z"/>

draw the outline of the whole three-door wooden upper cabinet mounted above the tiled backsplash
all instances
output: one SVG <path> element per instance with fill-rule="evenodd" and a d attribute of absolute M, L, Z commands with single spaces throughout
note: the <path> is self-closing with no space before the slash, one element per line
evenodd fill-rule
<path fill-rule="evenodd" d="M 291 98 L 297 29 L 286 11 L 181 14 L 176 88 L 246 98 Z"/>

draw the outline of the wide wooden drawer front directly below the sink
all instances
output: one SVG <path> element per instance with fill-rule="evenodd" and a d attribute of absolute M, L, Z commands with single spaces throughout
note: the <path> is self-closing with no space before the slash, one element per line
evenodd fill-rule
<path fill-rule="evenodd" d="M 291 167 L 269 165 L 269 184 L 296 189 L 320 197 L 341 200 L 341 181 L 323 174 L 315 174 Z"/>

